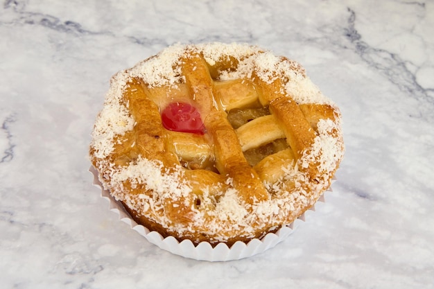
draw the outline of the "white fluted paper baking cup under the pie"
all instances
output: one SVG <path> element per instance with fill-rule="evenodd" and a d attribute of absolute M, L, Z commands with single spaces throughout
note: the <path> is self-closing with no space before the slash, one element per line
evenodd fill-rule
<path fill-rule="evenodd" d="M 306 215 L 315 211 L 314 205 L 311 209 L 303 213 L 302 216 L 297 218 L 297 220 L 292 224 L 281 227 L 281 229 L 276 233 L 266 234 L 266 236 L 263 236 L 261 239 L 254 238 L 247 244 L 237 241 L 231 247 L 228 247 L 225 243 L 218 243 L 218 245 L 213 247 L 208 242 L 194 245 L 191 240 L 182 240 L 182 242 L 179 242 L 172 236 L 163 238 L 163 236 L 157 231 L 150 231 L 143 225 L 137 224 L 137 222 L 135 222 L 130 214 L 125 210 L 121 202 L 114 200 L 109 191 L 103 188 L 98 179 L 98 172 L 93 166 L 89 168 L 89 172 L 94 175 L 94 185 L 101 189 L 101 197 L 109 201 L 110 211 L 117 213 L 119 215 L 119 220 L 130 225 L 131 229 L 134 229 L 141 234 L 141 236 L 144 236 L 150 243 L 157 245 L 161 249 L 171 252 L 172 254 L 201 261 L 239 260 L 265 252 L 267 249 L 275 247 L 275 245 L 280 243 L 282 240 L 285 240 L 285 238 L 292 234 L 299 226 L 300 222 L 305 220 Z M 331 189 L 329 189 L 329 191 L 331 191 Z M 324 196 L 322 195 L 318 201 L 324 202 Z"/>

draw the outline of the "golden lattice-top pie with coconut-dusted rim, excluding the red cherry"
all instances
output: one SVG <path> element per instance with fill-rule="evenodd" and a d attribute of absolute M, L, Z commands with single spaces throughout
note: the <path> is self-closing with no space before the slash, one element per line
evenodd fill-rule
<path fill-rule="evenodd" d="M 166 129 L 170 103 L 196 107 L 205 134 Z M 300 64 L 245 44 L 175 45 L 117 73 L 92 137 L 100 181 L 132 217 L 196 244 L 289 225 L 344 153 L 338 107 Z"/>

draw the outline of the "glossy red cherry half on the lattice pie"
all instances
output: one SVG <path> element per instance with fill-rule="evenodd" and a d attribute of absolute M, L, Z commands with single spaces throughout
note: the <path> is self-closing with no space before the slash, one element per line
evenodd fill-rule
<path fill-rule="evenodd" d="M 171 103 L 162 112 L 164 128 L 175 132 L 205 134 L 205 125 L 196 107 L 188 103 Z"/>

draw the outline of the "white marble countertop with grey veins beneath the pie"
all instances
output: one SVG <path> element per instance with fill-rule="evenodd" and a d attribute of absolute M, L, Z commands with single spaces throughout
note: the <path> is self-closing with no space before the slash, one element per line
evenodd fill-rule
<path fill-rule="evenodd" d="M 0 288 L 434 288 L 433 1 L 135 2 L 1 3 Z M 303 64 L 347 148 L 284 242 L 217 263 L 148 243 L 87 171 L 110 76 L 213 41 Z"/>

